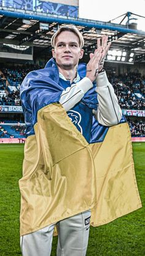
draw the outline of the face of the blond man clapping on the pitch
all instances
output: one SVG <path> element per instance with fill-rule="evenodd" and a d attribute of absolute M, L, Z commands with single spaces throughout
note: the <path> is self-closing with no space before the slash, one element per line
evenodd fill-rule
<path fill-rule="evenodd" d="M 66 70 L 76 67 L 83 53 L 84 50 L 79 46 L 79 38 L 71 31 L 61 32 L 56 39 L 55 49 L 52 49 L 58 67 Z"/>

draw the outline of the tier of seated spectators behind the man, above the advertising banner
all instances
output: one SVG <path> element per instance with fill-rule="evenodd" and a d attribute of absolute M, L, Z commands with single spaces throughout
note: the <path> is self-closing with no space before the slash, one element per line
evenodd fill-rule
<path fill-rule="evenodd" d="M 39 68 L 39 67 L 37 67 Z M 20 105 L 19 88 L 26 74 L 36 67 L 1 68 L 0 105 Z M 145 107 L 145 76 L 140 73 L 125 73 L 119 76 L 109 76 L 122 109 L 139 109 Z"/>

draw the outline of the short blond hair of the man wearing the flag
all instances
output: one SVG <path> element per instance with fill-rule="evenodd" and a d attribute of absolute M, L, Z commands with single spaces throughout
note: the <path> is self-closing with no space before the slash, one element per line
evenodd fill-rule
<path fill-rule="evenodd" d="M 55 43 L 56 43 L 56 39 L 57 39 L 58 35 L 60 35 L 60 33 L 63 31 L 70 31 L 70 32 L 74 33 L 79 38 L 80 48 L 82 48 L 84 46 L 84 38 L 83 38 L 82 34 L 80 33 L 80 31 L 77 29 L 77 27 L 72 26 L 72 25 L 67 25 L 65 27 L 60 27 L 57 30 L 57 32 L 55 32 L 53 34 L 52 39 L 51 39 L 51 44 L 52 44 L 53 48 L 55 48 Z"/>

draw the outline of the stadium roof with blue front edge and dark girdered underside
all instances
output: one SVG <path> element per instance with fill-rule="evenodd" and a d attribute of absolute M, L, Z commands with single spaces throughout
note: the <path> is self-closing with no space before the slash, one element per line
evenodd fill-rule
<path fill-rule="evenodd" d="M 44 57 L 50 54 L 53 33 L 68 23 L 83 33 L 86 55 L 95 48 L 96 39 L 105 34 L 112 41 L 111 49 L 135 53 L 135 62 L 145 60 L 145 31 L 137 30 L 136 23 L 121 25 L 7 7 L 0 9 L 1 43 L 34 46 L 34 56 Z"/>

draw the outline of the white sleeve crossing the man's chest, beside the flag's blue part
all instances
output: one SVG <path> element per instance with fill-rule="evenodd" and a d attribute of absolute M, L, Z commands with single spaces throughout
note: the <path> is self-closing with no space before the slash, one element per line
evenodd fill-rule
<path fill-rule="evenodd" d="M 68 111 L 79 102 L 87 91 L 93 87 L 92 81 L 84 77 L 75 85 L 66 88 L 60 96 L 60 103 L 64 109 Z"/>

